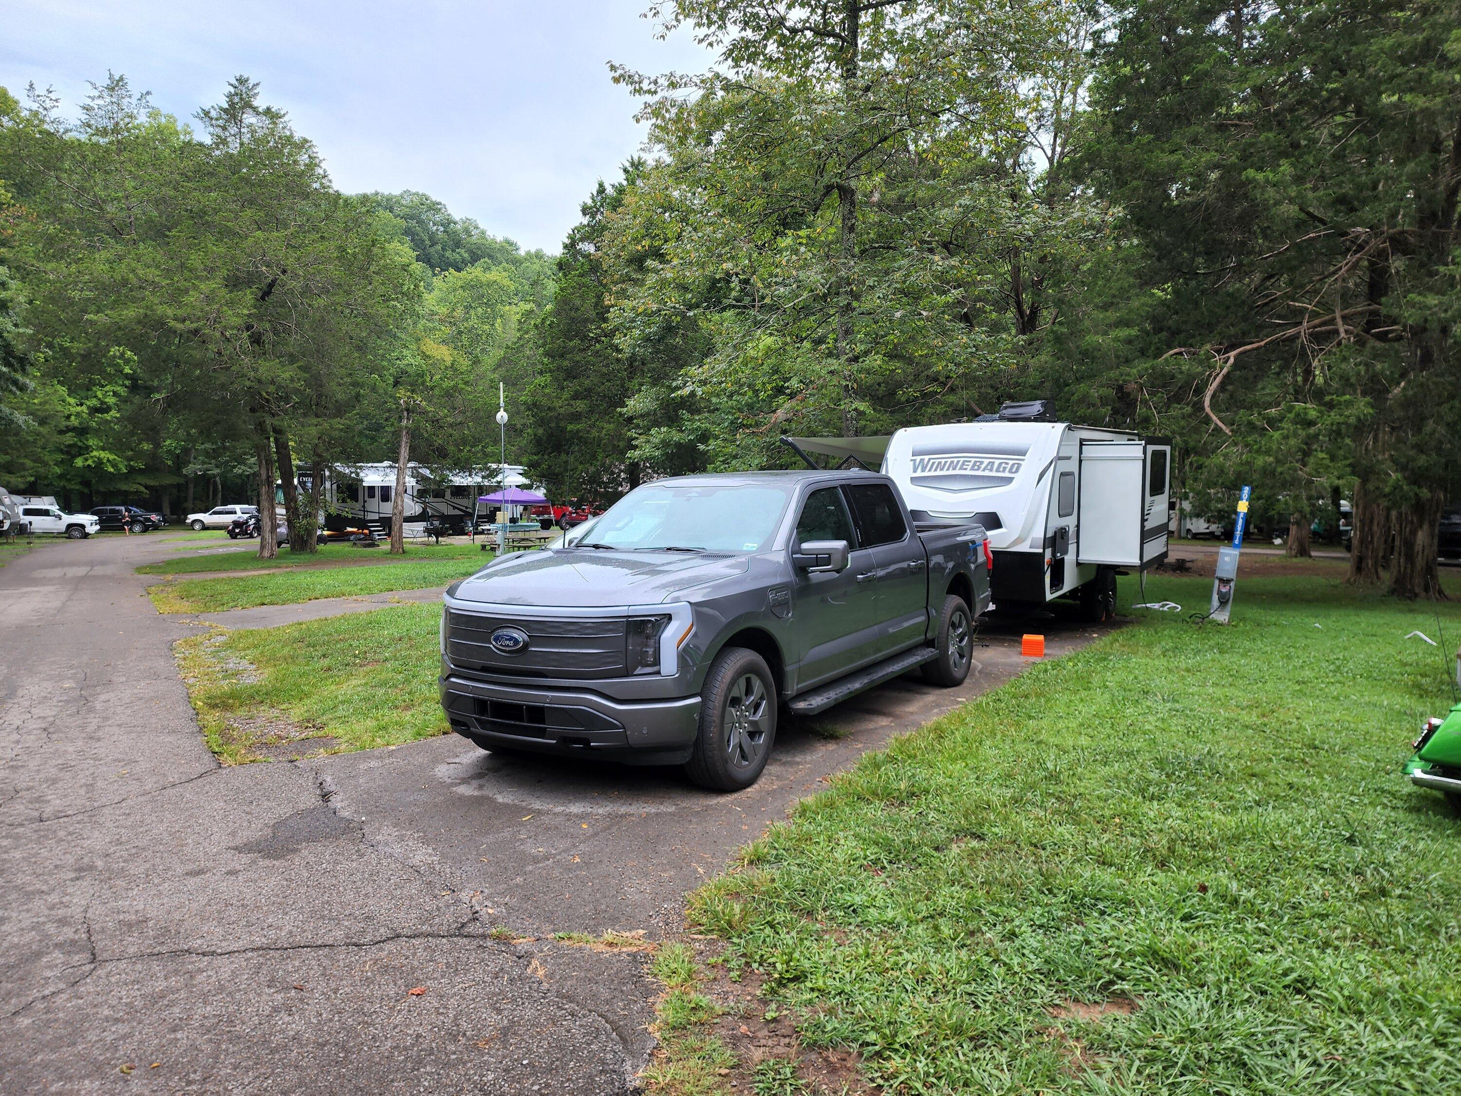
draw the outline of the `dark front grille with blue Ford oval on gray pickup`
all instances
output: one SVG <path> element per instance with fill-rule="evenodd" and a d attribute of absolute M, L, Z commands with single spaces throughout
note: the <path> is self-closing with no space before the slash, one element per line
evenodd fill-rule
<path fill-rule="evenodd" d="M 492 647 L 498 628 L 527 634 L 520 653 Z M 510 617 L 447 609 L 447 659 L 453 666 L 526 678 L 617 678 L 625 674 L 624 617 Z"/>

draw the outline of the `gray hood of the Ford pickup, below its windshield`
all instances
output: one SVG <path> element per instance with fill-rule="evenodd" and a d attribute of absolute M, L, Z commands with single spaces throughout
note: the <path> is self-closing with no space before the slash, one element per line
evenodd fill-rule
<path fill-rule="evenodd" d="M 748 557 L 729 552 L 596 548 L 514 552 L 463 579 L 447 596 L 497 605 L 657 605 L 693 586 L 742 574 L 748 567 Z"/>

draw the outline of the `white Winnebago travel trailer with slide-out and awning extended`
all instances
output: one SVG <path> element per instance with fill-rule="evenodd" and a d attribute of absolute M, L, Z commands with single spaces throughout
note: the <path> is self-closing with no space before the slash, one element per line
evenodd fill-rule
<path fill-rule="evenodd" d="M 998 608 L 1077 596 L 1088 618 L 1106 620 L 1116 571 L 1145 570 L 1167 554 L 1172 443 L 1045 415 L 1043 402 L 1007 403 L 974 422 L 890 437 L 787 440 L 842 460 L 881 457 L 915 520 L 985 526 Z"/>

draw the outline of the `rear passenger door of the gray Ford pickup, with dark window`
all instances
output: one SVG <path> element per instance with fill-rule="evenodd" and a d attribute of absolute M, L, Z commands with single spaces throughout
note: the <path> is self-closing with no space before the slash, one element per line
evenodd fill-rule
<path fill-rule="evenodd" d="M 923 640 L 928 627 L 928 557 L 903 520 L 903 507 L 887 484 L 843 488 L 852 501 L 858 542 L 872 549 L 878 623 L 877 652 L 894 655 Z"/>

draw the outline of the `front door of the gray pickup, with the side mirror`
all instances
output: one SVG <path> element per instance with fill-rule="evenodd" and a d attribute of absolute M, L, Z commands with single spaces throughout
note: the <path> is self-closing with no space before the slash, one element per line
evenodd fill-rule
<path fill-rule="evenodd" d="M 847 568 L 798 571 L 792 596 L 792 620 L 798 639 L 799 688 L 846 674 L 875 656 L 872 551 L 858 547 L 852 517 L 836 487 L 817 488 L 802 501 L 792 551 L 811 541 L 846 541 L 852 547 Z"/>

